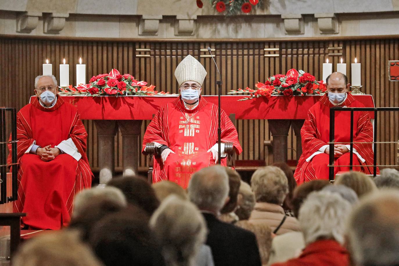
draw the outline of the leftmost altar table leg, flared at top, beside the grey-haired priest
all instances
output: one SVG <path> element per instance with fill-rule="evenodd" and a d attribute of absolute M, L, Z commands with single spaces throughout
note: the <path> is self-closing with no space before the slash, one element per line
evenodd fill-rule
<path fill-rule="evenodd" d="M 94 120 L 97 128 L 100 185 L 105 185 L 112 179 L 115 165 L 115 135 L 118 127 L 116 120 Z"/>

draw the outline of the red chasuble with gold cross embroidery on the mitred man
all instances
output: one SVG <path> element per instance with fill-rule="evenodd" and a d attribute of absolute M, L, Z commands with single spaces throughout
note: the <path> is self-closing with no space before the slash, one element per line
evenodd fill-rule
<path fill-rule="evenodd" d="M 146 143 L 158 142 L 168 146 L 170 153 L 165 164 L 154 158 L 153 183 L 170 180 L 183 188 L 188 186 L 192 173 L 215 164 L 211 152 L 217 143 L 217 106 L 199 97 L 193 110 L 187 110 L 181 97 L 160 108 L 144 134 L 143 152 Z M 221 142 L 233 142 L 235 152 L 242 152 L 237 130 L 227 114 L 221 111 Z M 221 160 L 226 166 L 226 159 Z"/>

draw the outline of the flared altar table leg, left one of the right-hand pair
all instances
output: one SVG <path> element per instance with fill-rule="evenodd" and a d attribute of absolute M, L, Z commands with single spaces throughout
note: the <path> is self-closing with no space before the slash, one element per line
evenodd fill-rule
<path fill-rule="evenodd" d="M 273 162 L 288 160 L 288 131 L 291 120 L 269 119 L 269 130 L 273 136 Z"/>

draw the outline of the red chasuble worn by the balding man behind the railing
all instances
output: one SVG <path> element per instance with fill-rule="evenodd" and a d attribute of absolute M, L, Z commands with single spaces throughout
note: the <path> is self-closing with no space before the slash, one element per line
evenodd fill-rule
<path fill-rule="evenodd" d="M 355 100 L 354 97 L 348 93 L 348 97 L 340 106 L 347 107 L 364 107 L 364 105 Z M 334 105 L 330 102 L 327 95 L 324 95 L 319 102 L 316 102 L 308 111 L 302 129 L 300 131 L 302 138 L 303 153 L 299 158 L 298 166 L 296 167 L 294 178 L 298 184 L 310 181 L 313 179 L 328 179 L 328 154 L 318 154 L 314 156 L 309 162 L 306 159 L 314 152 L 317 152 L 322 146 L 327 145 L 330 140 L 330 107 Z M 350 112 L 335 112 L 335 141 L 336 142 L 350 142 Z M 373 127 L 370 123 L 370 116 L 367 112 L 354 112 L 354 126 L 353 126 L 353 147 L 365 160 L 361 162 L 358 157 L 353 155 L 353 170 L 362 171 L 366 174 L 373 173 L 373 167 L 365 165 L 373 165 L 373 150 L 372 144 L 361 144 L 359 142 L 373 141 Z M 334 165 L 341 165 L 342 167 L 334 167 L 334 173 L 338 171 L 349 171 L 350 153 L 336 158 Z M 379 170 L 377 168 L 377 173 Z"/>

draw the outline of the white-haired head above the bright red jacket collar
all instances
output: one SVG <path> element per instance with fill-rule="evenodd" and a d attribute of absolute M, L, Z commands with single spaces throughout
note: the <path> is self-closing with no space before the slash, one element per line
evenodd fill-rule
<path fill-rule="evenodd" d="M 351 209 L 352 205 L 338 193 L 310 193 L 300 207 L 298 217 L 306 244 L 318 239 L 333 239 L 342 244 Z"/>

